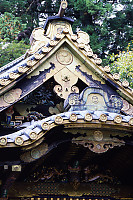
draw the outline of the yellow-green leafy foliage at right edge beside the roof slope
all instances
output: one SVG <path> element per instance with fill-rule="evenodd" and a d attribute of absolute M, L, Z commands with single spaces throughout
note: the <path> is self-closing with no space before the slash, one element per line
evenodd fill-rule
<path fill-rule="evenodd" d="M 133 42 L 132 42 L 133 43 Z M 127 80 L 133 88 L 133 48 L 132 44 L 128 44 L 126 51 L 120 51 L 119 54 L 112 54 L 111 71 L 119 73 L 121 80 Z"/>

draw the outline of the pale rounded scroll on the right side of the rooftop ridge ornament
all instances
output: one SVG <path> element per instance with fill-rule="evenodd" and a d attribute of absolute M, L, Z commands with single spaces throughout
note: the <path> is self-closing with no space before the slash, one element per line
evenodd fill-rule
<path fill-rule="evenodd" d="M 78 31 L 77 34 L 78 34 L 78 39 L 77 39 L 78 43 L 88 44 L 90 42 L 89 35 L 86 32 Z"/>

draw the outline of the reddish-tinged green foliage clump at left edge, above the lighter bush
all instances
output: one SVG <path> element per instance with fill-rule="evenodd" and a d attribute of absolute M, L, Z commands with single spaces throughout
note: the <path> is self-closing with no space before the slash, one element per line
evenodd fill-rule
<path fill-rule="evenodd" d="M 20 18 L 5 12 L 0 17 L 0 39 L 11 42 L 12 40 L 15 40 L 18 33 L 24 30 L 25 27 L 26 25 L 22 24 Z"/>

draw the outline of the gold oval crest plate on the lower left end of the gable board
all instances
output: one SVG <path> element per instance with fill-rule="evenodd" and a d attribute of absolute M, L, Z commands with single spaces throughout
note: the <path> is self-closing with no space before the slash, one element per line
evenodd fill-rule
<path fill-rule="evenodd" d="M 9 106 L 11 103 L 14 103 L 16 100 L 19 99 L 21 94 L 22 90 L 19 88 L 10 90 L 9 92 L 5 93 L 3 96 L 0 97 L 0 107 L 6 107 Z"/>

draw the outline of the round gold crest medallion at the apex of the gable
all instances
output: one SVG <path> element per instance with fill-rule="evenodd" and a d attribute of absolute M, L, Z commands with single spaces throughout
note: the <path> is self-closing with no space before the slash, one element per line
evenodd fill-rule
<path fill-rule="evenodd" d="M 73 61 L 72 54 L 67 50 L 59 50 L 56 54 L 57 60 L 62 65 L 70 65 Z"/>

